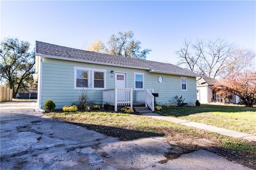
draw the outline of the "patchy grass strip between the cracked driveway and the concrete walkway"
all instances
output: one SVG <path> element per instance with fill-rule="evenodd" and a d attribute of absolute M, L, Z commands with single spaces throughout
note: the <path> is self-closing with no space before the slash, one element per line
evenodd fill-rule
<path fill-rule="evenodd" d="M 256 168 L 256 142 L 224 136 L 142 115 L 106 112 L 47 113 L 44 117 L 73 123 L 120 140 L 165 136 L 170 144 L 166 160 L 195 150 L 208 150 L 250 168 Z M 174 144 L 175 142 L 176 144 Z"/>

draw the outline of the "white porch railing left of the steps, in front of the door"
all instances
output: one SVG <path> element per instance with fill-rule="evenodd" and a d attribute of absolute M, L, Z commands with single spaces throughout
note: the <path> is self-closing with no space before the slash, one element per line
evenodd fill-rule
<path fill-rule="evenodd" d="M 114 106 L 115 111 L 117 111 L 117 106 L 130 105 L 132 107 L 132 89 L 116 88 L 103 90 L 102 101 L 102 107 L 108 103 Z"/>

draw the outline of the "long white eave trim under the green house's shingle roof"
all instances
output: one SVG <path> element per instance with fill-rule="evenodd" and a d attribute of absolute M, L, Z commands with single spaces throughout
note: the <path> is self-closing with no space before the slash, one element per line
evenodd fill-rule
<path fill-rule="evenodd" d="M 118 67 L 124 67 L 124 68 L 143 69 L 143 70 L 148 70 L 149 73 L 152 72 L 152 73 L 164 73 L 164 74 L 191 76 L 191 77 L 201 77 L 200 75 L 192 75 L 192 74 L 186 74 L 186 73 L 175 73 L 175 72 L 170 72 L 170 71 L 160 71 L 160 70 L 154 70 L 154 69 L 146 68 L 146 67 L 136 67 L 136 66 L 131 66 L 131 65 L 111 64 L 111 63 L 104 63 L 104 62 L 97 62 L 97 61 L 88 61 L 88 60 L 84 60 L 84 59 L 58 57 L 58 56 L 55 56 L 55 55 L 45 55 L 45 54 L 40 54 L 40 53 L 36 53 L 36 56 L 46 57 L 46 58 L 53 58 L 53 59 L 62 59 L 62 60 L 68 60 L 68 61 L 78 61 L 78 62 L 82 62 L 82 63 L 92 63 L 92 64 L 100 64 L 100 65 L 118 66 Z"/>

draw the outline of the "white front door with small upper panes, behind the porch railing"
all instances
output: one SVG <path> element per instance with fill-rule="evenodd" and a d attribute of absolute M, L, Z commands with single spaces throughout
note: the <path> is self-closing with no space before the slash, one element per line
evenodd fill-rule
<path fill-rule="evenodd" d="M 115 87 L 120 88 L 117 91 L 117 100 L 119 102 L 125 101 L 127 94 L 126 91 L 122 89 L 126 88 L 126 73 L 115 73 Z"/>

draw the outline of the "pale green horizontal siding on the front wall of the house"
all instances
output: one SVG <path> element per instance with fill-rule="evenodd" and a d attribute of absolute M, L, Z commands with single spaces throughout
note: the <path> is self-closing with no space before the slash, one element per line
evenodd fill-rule
<path fill-rule="evenodd" d="M 56 109 L 61 109 L 64 105 L 71 105 L 78 101 L 77 96 L 80 89 L 74 89 L 74 67 L 84 67 L 90 69 L 106 70 L 106 89 L 115 87 L 115 77 L 111 73 L 120 71 L 127 73 L 127 88 L 134 89 L 134 72 L 144 73 L 144 89 L 154 89 L 154 93 L 159 93 L 156 101 L 162 105 L 175 104 L 175 96 L 185 98 L 185 103 L 196 102 L 196 78 L 187 78 L 187 91 L 181 90 L 181 76 L 163 73 L 148 73 L 146 70 L 123 68 L 115 66 L 104 66 L 90 63 L 80 63 L 75 61 L 65 61 L 59 59 L 43 58 L 42 60 L 42 93 L 41 109 L 44 109 L 46 100 L 51 99 L 56 104 Z M 92 72 L 90 72 L 90 83 L 92 83 Z M 163 77 L 163 82 L 158 82 L 158 77 Z M 183 76 L 184 77 L 184 76 Z M 86 90 L 87 88 L 84 88 Z M 88 88 L 87 94 L 90 99 L 97 104 L 102 103 L 102 89 Z M 133 91 L 133 99 L 136 99 L 136 92 Z"/>

